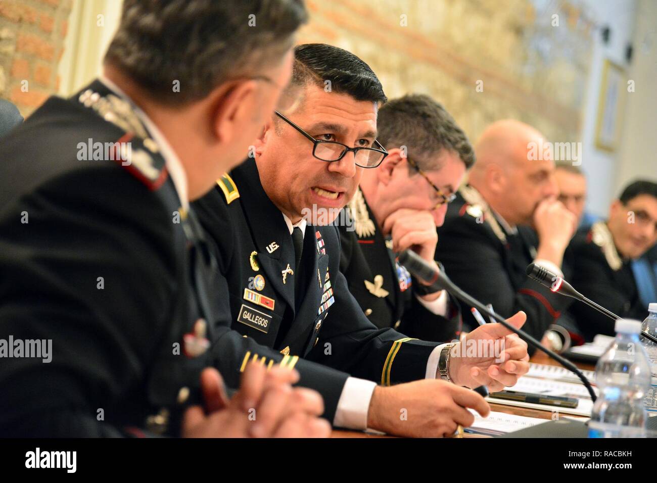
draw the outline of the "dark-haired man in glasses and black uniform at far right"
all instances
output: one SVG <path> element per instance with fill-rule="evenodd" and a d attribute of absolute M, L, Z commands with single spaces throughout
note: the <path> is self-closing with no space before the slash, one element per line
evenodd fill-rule
<path fill-rule="evenodd" d="M 657 183 L 634 181 L 612 202 L 606 221 L 579 231 L 571 242 L 572 285 L 620 317 L 644 319 L 648 307 L 639 296 L 631 262 L 655 242 Z M 589 306 L 573 304 L 570 310 L 586 340 L 593 340 L 595 334 L 614 334 L 614 321 Z"/>

